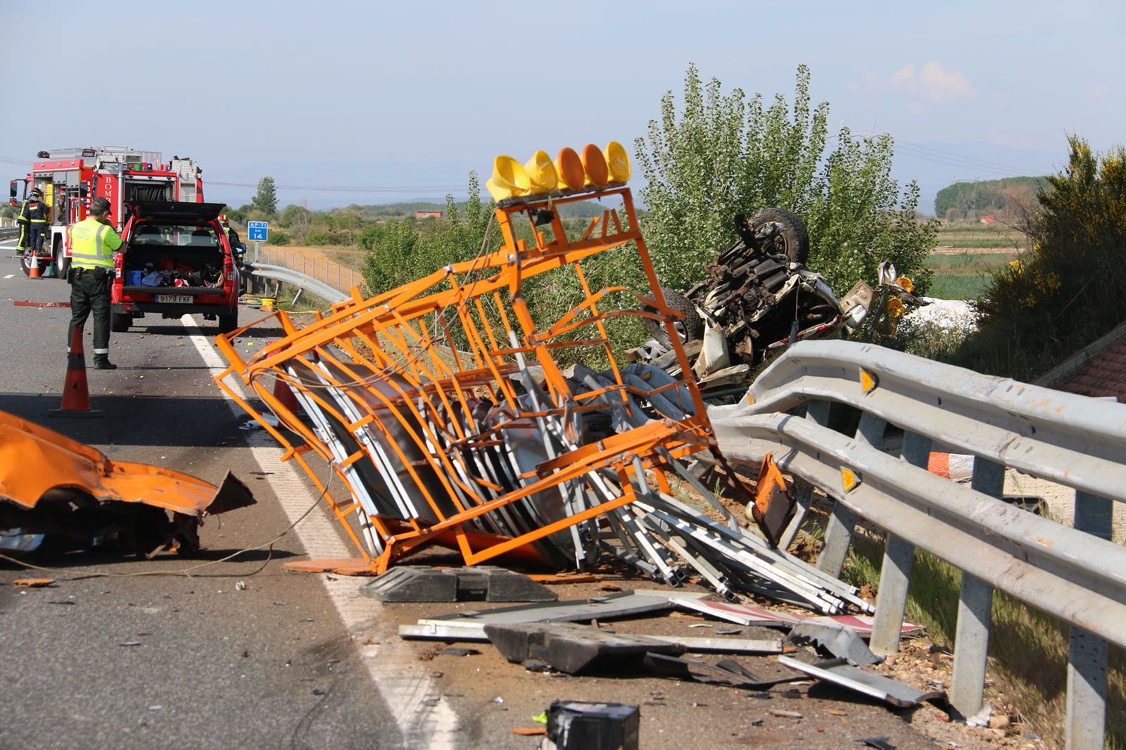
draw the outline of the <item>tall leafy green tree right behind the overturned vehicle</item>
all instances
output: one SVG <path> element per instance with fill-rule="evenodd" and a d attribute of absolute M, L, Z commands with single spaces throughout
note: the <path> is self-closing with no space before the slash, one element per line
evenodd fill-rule
<path fill-rule="evenodd" d="M 810 267 L 839 291 L 858 277 L 875 280 L 882 260 L 923 275 L 937 222 L 918 222 L 918 186 L 901 196 L 891 178 L 891 136 L 842 128 L 826 154 L 829 104 L 811 107 L 808 87 L 801 65 L 793 104 L 779 93 L 767 105 L 760 93 L 724 93 L 715 78 L 705 84 L 689 65 L 681 110 L 672 91 L 662 97 L 635 158 L 646 180 L 642 230 L 663 284 L 685 289 L 704 278 L 714 253 L 735 240 L 734 215 L 771 206 L 805 220 Z"/>

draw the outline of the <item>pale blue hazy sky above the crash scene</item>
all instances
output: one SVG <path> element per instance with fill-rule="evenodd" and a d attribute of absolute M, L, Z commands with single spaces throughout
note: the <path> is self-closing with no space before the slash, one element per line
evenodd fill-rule
<path fill-rule="evenodd" d="M 311 207 L 437 198 L 498 153 L 632 152 L 689 62 L 768 97 L 806 63 L 833 130 L 896 139 L 923 207 L 954 178 L 1058 168 L 1067 133 L 1126 140 L 1120 1 L 53 7 L 0 0 L 7 179 L 41 149 L 127 144 L 195 158 L 234 205 L 253 188 L 221 184 L 263 175 Z"/>

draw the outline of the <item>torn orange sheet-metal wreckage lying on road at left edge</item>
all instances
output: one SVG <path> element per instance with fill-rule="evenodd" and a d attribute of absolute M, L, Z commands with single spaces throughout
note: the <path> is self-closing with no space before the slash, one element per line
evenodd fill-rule
<path fill-rule="evenodd" d="M 253 503 L 250 490 L 230 473 L 215 486 L 170 468 L 113 461 L 88 445 L 0 412 L 0 528 L 92 538 L 129 524 L 135 527 L 143 518 L 151 528 L 131 528 L 131 534 L 148 542 L 163 530 L 169 537 L 185 537 L 181 544 L 191 547 L 204 516 Z M 151 511 L 128 510 L 138 506 Z M 164 511 L 172 512 L 171 521 Z"/>

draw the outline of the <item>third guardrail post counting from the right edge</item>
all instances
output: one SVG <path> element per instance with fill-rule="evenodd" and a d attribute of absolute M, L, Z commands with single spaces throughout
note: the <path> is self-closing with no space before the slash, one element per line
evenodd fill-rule
<path fill-rule="evenodd" d="M 900 456 L 912 466 L 926 468 L 930 458 L 930 438 L 918 432 L 904 432 Z M 896 653 L 900 650 L 903 610 L 908 604 L 913 565 L 914 545 L 888 533 L 884 565 L 879 569 L 879 591 L 876 593 L 876 616 L 869 644 L 874 653 Z"/>

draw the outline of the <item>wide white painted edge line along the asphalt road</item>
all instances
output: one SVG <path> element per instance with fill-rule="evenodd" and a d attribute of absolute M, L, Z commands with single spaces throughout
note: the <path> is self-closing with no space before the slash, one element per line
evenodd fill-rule
<path fill-rule="evenodd" d="M 197 327 L 191 315 L 182 316 L 180 322 L 189 329 Z M 215 350 L 209 337 L 188 333 L 188 339 L 195 345 L 213 376 L 226 368 L 226 363 Z M 240 398 L 248 398 L 238 378 L 229 378 L 229 385 Z M 229 396 L 226 401 L 236 417 L 247 416 Z M 258 466 L 267 472 L 266 479 L 292 523 L 309 509 L 315 498 L 310 494 L 294 464 L 279 461 L 282 452 L 268 434 L 252 432 L 247 443 Z M 334 521 L 323 512 L 310 514 L 297 524 L 294 532 L 311 557 L 356 555 L 356 551 L 337 534 Z M 441 697 L 429 673 L 420 669 L 419 660 L 399 637 L 394 623 L 383 611 L 383 605 L 360 596 L 357 591 L 359 584 L 354 578 L 318 578 L 348 634 L 359 644 L 360 660 L 395 717 L 405 747 L 436 750 L 457 747 L 461 738 L 457 714 L 446 698 Z M 367 643 L 369 641 L 374 643 Z M 430 703 L 435 705 L 429 705 Z"/>

